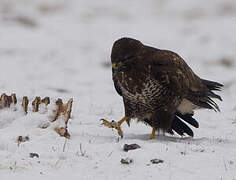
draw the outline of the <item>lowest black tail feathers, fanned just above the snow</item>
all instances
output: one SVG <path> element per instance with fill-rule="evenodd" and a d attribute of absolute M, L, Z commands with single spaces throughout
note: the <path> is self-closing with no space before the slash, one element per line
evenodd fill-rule
<path fill-rule="evenodd" d="M 189 136 L 193 137 L 193 131 L 190 127 L 188 127 L 183 121 L 181 121 L 178 116 L 174 117 L 174 120 L 172 122 L 171 125 L 171 130 L 170 130 L 170 134 L 173 134 L 173 130 L 179 134 L 180 136 L 183 136 L 184 133 L 188 134 Z"/>

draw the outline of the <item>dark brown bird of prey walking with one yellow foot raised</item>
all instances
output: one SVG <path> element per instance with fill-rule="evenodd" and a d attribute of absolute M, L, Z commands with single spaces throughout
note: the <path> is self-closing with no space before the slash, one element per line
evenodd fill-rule
<path fill-rule="evenodd" d="M 198 128 L 194 110 L 220 111 L 212 100 L 221 97 L 222 84 L 201 79 L 176 53 L 146 46 L 131 38 L 115 41 L 111 52 L 112 78 L 122 96 L 125 116 L 118 122 L 103 119 L 103 124 L 116 128 L 123 136 L 121 124 L 131 119 L 152 127 L 150 139 L 162 130 L 170 134 L 193 136 L 185 123 Z"/>

